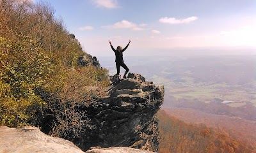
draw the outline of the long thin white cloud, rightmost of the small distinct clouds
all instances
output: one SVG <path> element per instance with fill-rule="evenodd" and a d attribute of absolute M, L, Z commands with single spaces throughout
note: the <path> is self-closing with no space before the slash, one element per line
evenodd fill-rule
<path fill-rule="evenodd" d="M 168 17 L 163 17 L 159 19 L 159 22 L 164 23 L 164 24 L 188 24 L 189 22 L 193 22 L 197 20 L 198 17 L 188 17 L 188 18 L 168 18 Z"/>

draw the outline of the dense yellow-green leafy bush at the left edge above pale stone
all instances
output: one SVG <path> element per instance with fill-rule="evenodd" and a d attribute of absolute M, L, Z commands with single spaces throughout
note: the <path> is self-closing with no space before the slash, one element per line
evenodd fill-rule
<path fill-rule="evenodd" d="M 0 36 L 0 124 L 22 126 L 33 119 L 35 108 L 44 101 L 35 89 L 49 80 L 54 66 L 33 40 L 20 36 L 13 42 Z"/>

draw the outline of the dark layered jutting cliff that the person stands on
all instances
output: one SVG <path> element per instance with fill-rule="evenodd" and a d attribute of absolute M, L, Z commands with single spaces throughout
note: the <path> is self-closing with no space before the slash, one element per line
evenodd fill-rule
<path fill-rule="evenodd" d="M 108 94 L 84 108 L 95 127 L 72 142 L 82 150 L 125 146 L 157 151 L 159 130 L 155 114 L 163 103 L 163 85 L 156 87 L 141 75 L 129 73 L 127 79 L 112 84 Z"/>

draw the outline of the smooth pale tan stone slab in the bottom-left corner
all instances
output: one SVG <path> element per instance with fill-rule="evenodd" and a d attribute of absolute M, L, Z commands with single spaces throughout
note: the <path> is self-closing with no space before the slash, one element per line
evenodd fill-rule
<path fill-rule="evenodd" d="M 48 152 L 83 152 L 74 143 L 61 138 L 45 135 L 35 127 L 21 129 L 0 127 L 0 153 L 48 153 Z"/>

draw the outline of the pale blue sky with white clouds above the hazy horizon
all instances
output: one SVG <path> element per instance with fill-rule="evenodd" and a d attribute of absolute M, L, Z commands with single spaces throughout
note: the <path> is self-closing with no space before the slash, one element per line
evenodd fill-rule
<path fill-rule="evenodd" d="M 83 50 L 113 55 L 161 55 L 177 48 L 252 49 L 256 53 L 255 0 L 33 0 L 55 10 Z"/>

